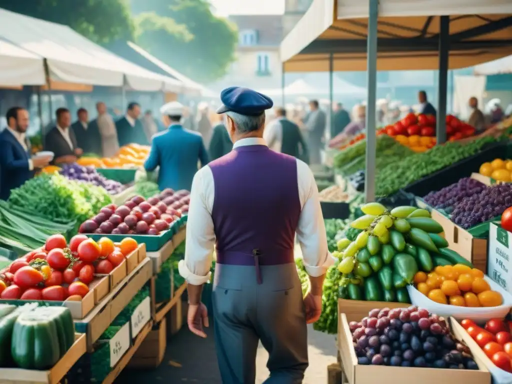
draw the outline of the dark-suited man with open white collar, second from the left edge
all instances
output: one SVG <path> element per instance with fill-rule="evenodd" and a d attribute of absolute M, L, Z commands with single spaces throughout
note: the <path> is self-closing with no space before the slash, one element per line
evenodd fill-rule
<path fill-rule="evenodd" d="M 59 108 L 55 112 L 57 124 L 46 134 L 45 151 L 55 154 L 53 163 L 74 163 L 83 153 L 78 146 L 75 133 L 70 129 L 71 114 L 67 108 Z"/>

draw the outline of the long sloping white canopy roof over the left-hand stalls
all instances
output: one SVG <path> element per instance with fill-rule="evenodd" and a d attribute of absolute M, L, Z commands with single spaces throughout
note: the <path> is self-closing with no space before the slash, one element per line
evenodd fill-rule
<path fill-rule="evenodd" d="M 125 76 L 127 86 L 137 91 L 182 89 L 180 81 L 126 61 L 68 26 L 0 9 L 0 36 L 44 57 L 55 81 L 120 87 Z"/>

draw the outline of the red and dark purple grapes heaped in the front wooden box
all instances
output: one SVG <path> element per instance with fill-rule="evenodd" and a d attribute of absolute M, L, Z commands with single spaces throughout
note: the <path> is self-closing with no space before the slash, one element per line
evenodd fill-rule
<path fill-rule="evenodd" d="M 478 369 L 445 319 L 426 309 L 372 309 L 349 328 L 359 365 Z"/>

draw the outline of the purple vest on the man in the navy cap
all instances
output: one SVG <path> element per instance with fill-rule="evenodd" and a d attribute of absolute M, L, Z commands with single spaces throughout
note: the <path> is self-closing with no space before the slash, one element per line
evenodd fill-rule
<path fill-rule="evenodd" d="M 295 158 L 266 145 L 247 145 L 208 166 L 215 184 L 211 216 L 221 255 L 218 262 L 254 265 L 250 258 L 239 256 L 256 253 L 268 256 L 262 258 L 262 265 L 289 262 L 284 255 L 293 255 L 301 213 Z"/>

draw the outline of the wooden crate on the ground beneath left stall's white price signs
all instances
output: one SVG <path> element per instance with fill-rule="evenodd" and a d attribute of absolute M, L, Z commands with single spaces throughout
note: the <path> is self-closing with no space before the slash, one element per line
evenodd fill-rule
<path fill-rule="evenodd" d="M 128 368 L 156 368 L 161 364 L 167 347 L 166 324 L 164 317 L 160 323 L 153 326 L 130 360 Z"/>

